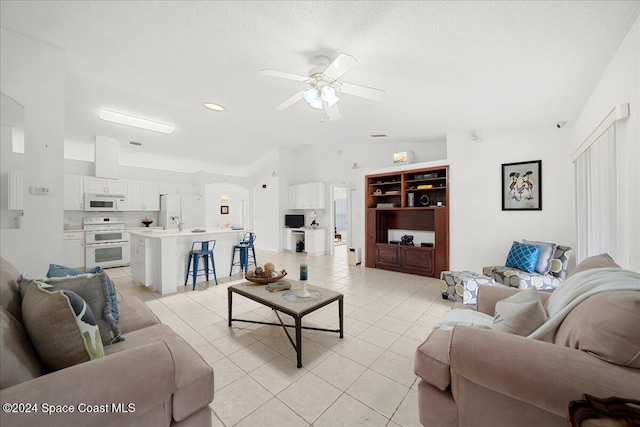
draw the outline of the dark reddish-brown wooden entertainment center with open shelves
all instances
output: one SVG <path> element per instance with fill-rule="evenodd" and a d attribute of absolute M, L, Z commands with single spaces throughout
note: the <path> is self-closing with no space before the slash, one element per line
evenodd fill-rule
<path fill-rule="evenodd" d="M 432 277 L 449 269 L 448 177 L 448 166 L 365 177 L 367 267 Z"/>

